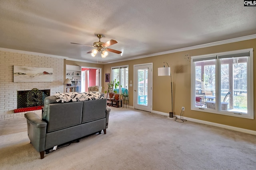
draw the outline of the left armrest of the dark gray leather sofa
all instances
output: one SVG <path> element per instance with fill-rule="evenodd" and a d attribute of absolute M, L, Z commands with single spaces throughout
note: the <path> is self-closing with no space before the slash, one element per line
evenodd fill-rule
<path fill-rule="evenodd" d="M 47 123 L 34 112 L 25 113 L 28 125 L 28 138 L 38 151 L 44 151 Z"/>

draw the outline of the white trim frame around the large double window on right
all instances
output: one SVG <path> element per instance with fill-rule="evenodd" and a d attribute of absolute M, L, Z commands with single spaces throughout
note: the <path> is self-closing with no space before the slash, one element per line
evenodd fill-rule
<path fill-rule="evenodd" d="M 196 61 L 203 61 L 205 58 L 207 59 L 214 59 L 214 56 L 216 56 L 216 65 L 215 65 L 215 84 L 216 84 L 216 103 L 218 103 L 217 106 L 220 106 L 219 96 L 220 96 L 220 59 L 223 58 L 223 56 L 228 56 L 232 54 L 239 54 L 242 53 L 248 53 L 250 56 L 247 58 L 247 98 L 248 98 L 248 108 L 247 108 L 247 114 L 238 114 L 239 112 L 230 112 L 230 111 L 223 111 L 220 110 L 218 107 L 216 109 L 208 109 L 208 108 L 201 108 L 201 107 L 195 107 L 195 94 L 196 94 Z M 220 56 L 220 58 L 219 58 Z M 207 54 L 207 55 L 198 55 L 198 56 L 192 56 L 191 57 L 191 110 L 196 111 L 203 111 L 208 113 L 216 113 L 221 115 L 228 115 L 233 117 L 241 117 L 241 118 L 247 118 L 247 119 L 254 119 L 254 73 L 253 73 L 253 49 L 242 49 L 242 50 L 235 50 L 235 51 L 227 51 L 222 53 L 214 53 L 214 54 Z"/>

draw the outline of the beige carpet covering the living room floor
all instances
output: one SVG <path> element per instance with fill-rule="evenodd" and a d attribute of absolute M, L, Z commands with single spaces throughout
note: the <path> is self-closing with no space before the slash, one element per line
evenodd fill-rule
<path fill-rule="evenodd" d="M 255 170 L 256 136 L 163 115 L 110 107 L 107 134 L 40 154 L 26 119 L 0 121 L 3 170 Z"/>

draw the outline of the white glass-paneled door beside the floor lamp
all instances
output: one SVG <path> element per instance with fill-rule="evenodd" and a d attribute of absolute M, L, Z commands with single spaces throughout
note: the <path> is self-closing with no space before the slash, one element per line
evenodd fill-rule
<path fill-rule="evenodd" d="M 134 65 L 134 109 L 152 112 L 153 63 Z"/>

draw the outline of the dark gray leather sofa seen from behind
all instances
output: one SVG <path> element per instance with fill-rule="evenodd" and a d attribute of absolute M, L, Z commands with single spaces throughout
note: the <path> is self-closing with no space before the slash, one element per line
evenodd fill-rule
<path fill-rule="evenodd" d="M 108 128 L 110 109 L 107 99 L 79 102 L 56 102 L 58 98 L 48 96 L 44 100 L 42 120 L 36 113 L 25 113 L 28 137 L 34 148 L 40 152 L 77 140 L 93 133 L 101 133 Z"/>

